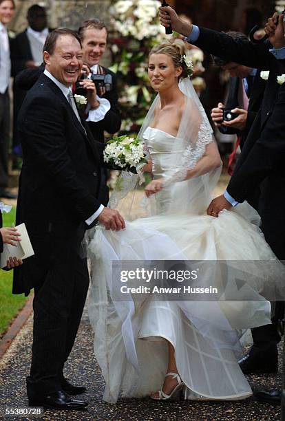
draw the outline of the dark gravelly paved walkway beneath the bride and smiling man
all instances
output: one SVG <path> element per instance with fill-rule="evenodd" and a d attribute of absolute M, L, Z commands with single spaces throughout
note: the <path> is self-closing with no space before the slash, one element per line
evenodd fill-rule
<path fill-rule="evenodd" d="M 279 407 L 261 404 L 249 398 L 240 402 L 154 402 L 145 399 L 121 399 L 117 404 L 102 401 L 104 380 L 93 354 L 93 332 L 87 314 L 83 315 L 78 337 L 66 367 L 67 376 L 88 388 L 84 398 L 87 411 L 45 411 L 43 420 L 189 420 L 189 421 L 274 421 L 279 420 Z M 5 407 L 25 407 L 25 376 L 28 375 L 32 343 L 32 317 L 19 332 L 8 352 L 0 360 L 0 413 Z M 281 352 L 281 348 L 280 348 Z M 249 376 L 254 387 L 269 389 L 281 385 L 279 374 Z M 16 420 L 0 415 L 0 420 Z M 18 418 L 19 419 L 19 418 Z M 33 420 L 34 418 L 21 418 Z"/>

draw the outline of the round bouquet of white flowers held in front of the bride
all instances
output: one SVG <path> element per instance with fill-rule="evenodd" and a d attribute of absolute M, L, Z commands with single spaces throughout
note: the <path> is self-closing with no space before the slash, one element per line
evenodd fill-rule
<path fill-rule="evenodd" d="M 136 173 L 138 164 L 147 164 L 143 145 L 138 139 L 118 136 L 107 142 L 103 152 L 104 162 L 125 171 Z"/>

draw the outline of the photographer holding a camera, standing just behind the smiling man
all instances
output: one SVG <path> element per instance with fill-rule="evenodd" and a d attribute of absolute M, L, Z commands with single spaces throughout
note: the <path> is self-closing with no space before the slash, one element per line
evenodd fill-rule
<path fill-rule="evenodd" d="M 94 138 L 104 142 L 104 131 L 114 134 L 120 130 L 121 123 L 116 75 L 106 67 L 99 65 L 107 45 L 107 28 L 102 21 L 89 19 L 83 22 L 78 34 L 82 40 L 83 62 L 88 65 L 90 73 L 87 75 L 87 78 L 81 80 L 76 86 L 79 87 L 81 85 L 83 89 L 87 89 L 86 121 Z M 94 80 L 96 75 L 110 75 L 111 77 L 101 77 L 98 83 Z M 80 92 L 81 90 L 76 89 L 75 94 Z M 107 205 L 109 191 L 106 186 L 106 169 L 102 170 L 101 180 L 100 199 L 101 203 Z"/>

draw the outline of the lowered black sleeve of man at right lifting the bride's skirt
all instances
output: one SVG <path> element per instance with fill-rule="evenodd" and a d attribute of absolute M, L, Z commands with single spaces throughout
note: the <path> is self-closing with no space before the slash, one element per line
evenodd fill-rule
<path fill-rule="evenodd" d="M 237 202 L 247 199 L 264 178 L 282 165 L 282 158 L 285 155 L 284 109 L 285 85 L 282 85 L 273 113 L 268 118 L 260 138 L 250 151 L 247 150 L 247 145 L 244 145 L 240 155 L 240 165 L 238 162 L 226 189 Z"/>

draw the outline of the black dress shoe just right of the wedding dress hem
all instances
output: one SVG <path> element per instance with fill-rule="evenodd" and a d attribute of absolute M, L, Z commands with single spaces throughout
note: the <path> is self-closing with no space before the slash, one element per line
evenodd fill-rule
<path fill-rule="evenodd" d="M 239 362 L 243 374 L 270 374 L 277 373 L 277 358 L 258 358 L 256 355 L 246 354 Z"/>

